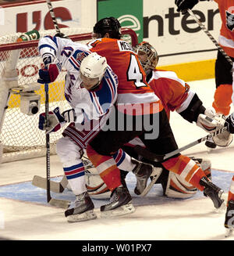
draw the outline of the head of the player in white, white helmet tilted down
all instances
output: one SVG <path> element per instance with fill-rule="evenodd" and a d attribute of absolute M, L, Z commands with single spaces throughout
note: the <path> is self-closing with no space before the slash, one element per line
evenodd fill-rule
<path fill-rule="evenodd" d="M 108 64 L 105 57 L 92 52 L 80 64 L 80 78 L 87 89 L 96 88 L 105 74 Z"/>

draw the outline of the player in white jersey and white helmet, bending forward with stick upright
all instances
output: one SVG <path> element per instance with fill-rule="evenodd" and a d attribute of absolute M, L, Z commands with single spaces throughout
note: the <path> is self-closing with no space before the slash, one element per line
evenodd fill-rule
<path fill-rule="evenodd" d="M 86 45 L 65 38 L 44 37 L 39 41 L 38 47 L 45 65 L 44 69 L 39 70 L 38 82 L 44 84 L 55 81 L 62 67 L 65 67 L 65 96 L 73 107 L 62 114 L 58 107 L 50 112 L 50 125 L 47 128 L 47 132 L 56 132 L 62 125 L 70 123 L 56 145 L 69 186 L 76 195 L 76 201 L 69 206 L 65 215 L 69 222 L 97 218 L 94 204 L 87 193 L 81 157 L 83 149 L 97 135 L 112 110 L 117 97 L 118 78 L 108 67 L 105 57 L 95 52 L 90 53 Z M 44 114 L 40 115 L 39 128 L 45 129 Z M 123 158 L 116 160 L 116 163 L 126 171 L 137 170 L 142 165 L 133 164 L 126 154 Z M 146 166 L 154 168 L 150 164 L 145 164 L 144 167 Z M 114 178 L 111 179 L 117 180 L 122 186 L 120 174 L 112 174 L 110 171 L 108 176 L 112 175 Z M 108 189 L 112 190 L 109 186 Z M 129 199 L 131 200 L 130 196 Z M 133 205 L 129 208 L 129 213 L 134 211 Z"/>

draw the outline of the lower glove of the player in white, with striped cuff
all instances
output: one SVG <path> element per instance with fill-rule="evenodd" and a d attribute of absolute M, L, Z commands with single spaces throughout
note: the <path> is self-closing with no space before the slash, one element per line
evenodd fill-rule
<path fill-rule="evenodd" d="M 48 114 L 48 127 L 45 126 L 45 113 L 40 114 L 38 127 L 46 133 L 57 132 L 66 123 L 76 121 L 74 110 L 66 110 L 60 114 L 59 107 Z"/>

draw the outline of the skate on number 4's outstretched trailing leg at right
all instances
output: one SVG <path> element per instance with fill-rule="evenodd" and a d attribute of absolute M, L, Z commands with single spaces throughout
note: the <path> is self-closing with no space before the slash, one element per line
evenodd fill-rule
<path fill-rule="evenodd" d="M 204 186 L 204 196 L 210 197 L 214 203 L 215 208 L 219 208 L 222 206 L 225 201 L 222 199 L 222 193 L 224 192 L 214 183 L 212 183 L 207 177 L 203 177 L 200 179 L 200 185 Z"/>

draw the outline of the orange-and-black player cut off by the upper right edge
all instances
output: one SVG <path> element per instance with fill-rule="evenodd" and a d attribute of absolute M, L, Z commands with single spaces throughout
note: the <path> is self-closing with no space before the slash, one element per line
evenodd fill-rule
<path fill-rule="evenodd" d="M 209 1 L 209 0 L 200 0 Z M 218 3 L 218 9 L 222 20 L 222 27 L 218 37 L 218 43 L 226 54 L 234 60 L 234 3 L 232 0 L 214 0 Z M 186 9 L 192 9 L 198 0 L 176 0 L 177 11 L 186 13 Z M 215 96 L 212 106 L 217 113 L 229 115 L 232 103 L 232 67 L 225 56 L 218 51 L 215 62 Z M 211 143 L 210 143 L 211 144 Z M 212 145 L 212 144 L 211 144 Z"/>

